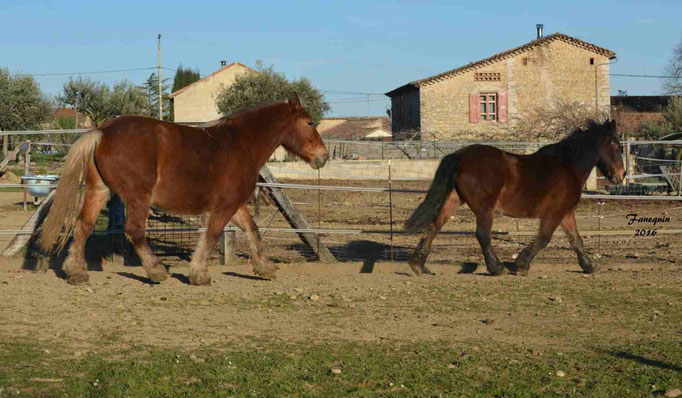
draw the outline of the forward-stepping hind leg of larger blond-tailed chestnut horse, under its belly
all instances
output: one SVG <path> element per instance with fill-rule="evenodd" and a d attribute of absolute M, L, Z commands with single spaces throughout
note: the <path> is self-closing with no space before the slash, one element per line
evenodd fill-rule
<path fill-rule="evenodd" d="M 168 271 L 161 265 L 158 257 L 154 255 L 147 244 L 145 227 L 149 215 L 149 199 L 136 199 L 126 203 L 128 214 L 126 215 L 126 234 L 133 243 L 137 255 L 142 260 L 142 268 L 152 282 L 162 282 L 168 278 Z"/>

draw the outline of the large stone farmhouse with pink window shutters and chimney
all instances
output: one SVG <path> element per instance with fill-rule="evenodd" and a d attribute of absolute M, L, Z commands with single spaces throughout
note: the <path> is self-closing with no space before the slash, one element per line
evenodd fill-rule
<path fill-rule="evenodd" d="M 529 113 L 560 101 L 610 110 L 611 50 L 562 33 L 537 39 L 480 61 L 402 85 L 391 98 L 394 139 L 407 132 L 439 139 L 512 139 Z"/>

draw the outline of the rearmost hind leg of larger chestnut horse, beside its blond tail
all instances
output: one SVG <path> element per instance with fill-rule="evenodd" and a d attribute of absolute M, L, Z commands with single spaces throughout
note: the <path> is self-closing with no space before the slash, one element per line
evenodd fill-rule
<path fill-rule="evenodd" d="M 72 285 L 82 285 L 88 282 L 88 270 L 85 263 L 85 242 L 95 226 L 100 210 L 109 199 L 109 188 L 104 185 L 94 163 L 88 166 L 85 180 L 85 196 L 83 208 L 78 215 L 74 229 L 73 242 L 69 248 L 69 255 L 64 262 L 64 272 L 68 275 L 67 282 Z"/>

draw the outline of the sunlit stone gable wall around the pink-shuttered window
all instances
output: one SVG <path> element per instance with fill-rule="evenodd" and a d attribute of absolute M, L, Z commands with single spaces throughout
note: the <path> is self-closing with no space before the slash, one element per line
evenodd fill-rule
<path fill-rule="evenodd" d="M 512 132 L 521 118 L 557 101 L 595 104 L 595 68 L 598 69 L 599 110 L 608 113 L 608 58 L 555 40 L 494 64 L 421 86 L 421 130 L 438 132 L 440 139 L 517 139 Z M 499 73 L 500 80 L 475 81 L 477 72 Z M 507 123 L 469 121 L 469 95 L 483 92 L 507 93 Z"/>

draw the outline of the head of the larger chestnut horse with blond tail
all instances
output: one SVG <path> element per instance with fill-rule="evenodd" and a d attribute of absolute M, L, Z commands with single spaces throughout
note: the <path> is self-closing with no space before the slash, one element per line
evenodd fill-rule
<path fill-rule="evenodd" d="M 323 167 L 329 160 L 329 152 L 313 119 L 301 105 L 298 94 L 293 93 L 287 102 L 291 106 L 293 121 L 284 132 L 282 145 L 287 151 L 303 158 L 313 169 Z"/>

